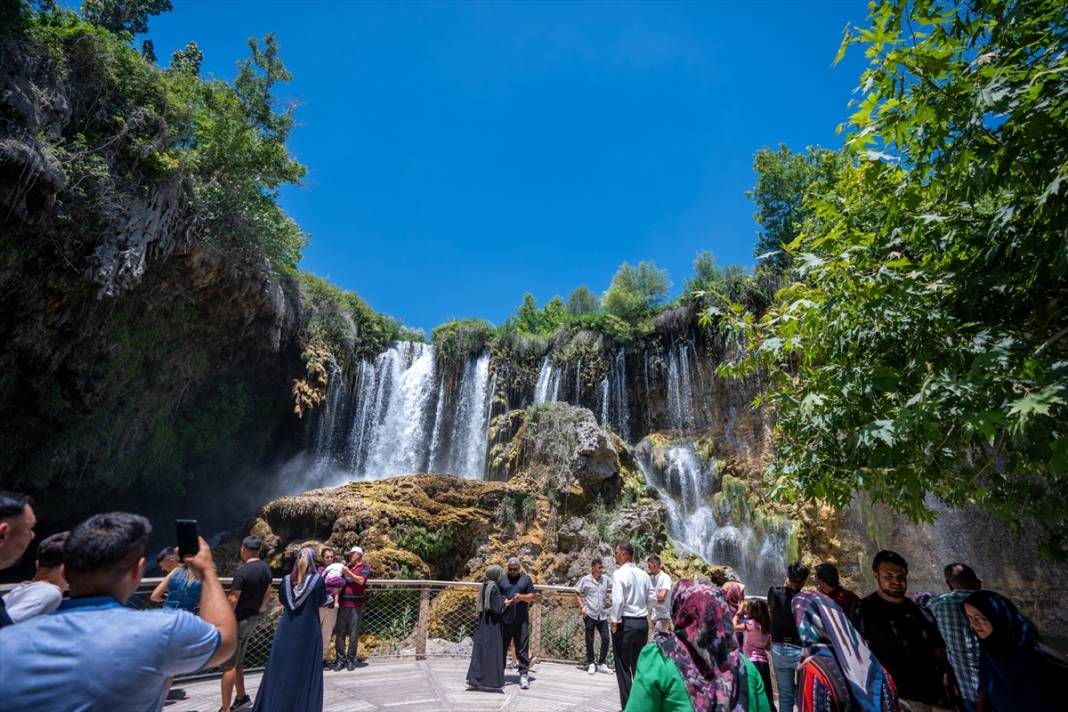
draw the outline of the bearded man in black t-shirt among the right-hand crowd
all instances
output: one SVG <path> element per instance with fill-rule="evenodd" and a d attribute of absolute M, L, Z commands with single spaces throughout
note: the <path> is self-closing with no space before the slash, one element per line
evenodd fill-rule
<path fill-rule="evenodd" d="M 871 653 L 894 679 L 897 696 L 914 712 L 942 710 L 944 682 L 952 684 L 945 643 L 934 616 L 905 594 L 909 565 L 892 551 L 881 551 L 871 563 L 878 588 L 853 607 L 853 626 Z"/>

